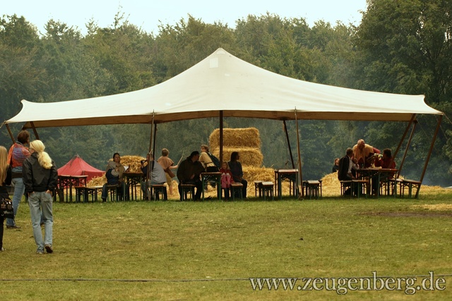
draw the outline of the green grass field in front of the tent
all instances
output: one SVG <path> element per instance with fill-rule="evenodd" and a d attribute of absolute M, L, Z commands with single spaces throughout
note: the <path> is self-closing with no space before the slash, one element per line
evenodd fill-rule
<path fill-rule="evenodd" d="M 54 203 L 54 254 L 28 207 L 6 230 L 3 300 L 451 300 L 446 290 L 252 290 L 256 277 L 452 274 L 452 194 L 421 199 Z M 302 240 L 300 240 L 302 238 Z M 9 262 L 10 266 L 5 264 Z M 298 284 L 298 283 L 297 283 Z"/>

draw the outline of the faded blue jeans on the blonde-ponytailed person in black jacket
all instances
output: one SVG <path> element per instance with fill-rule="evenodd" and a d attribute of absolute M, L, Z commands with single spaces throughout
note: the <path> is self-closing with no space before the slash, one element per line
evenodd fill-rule
<path fill-rule="evenodd" d="M 52 231 L 54 224 L 52 204 L 52 195 L 45 191 L 33 192 L 28 197 L 33 236 L 35 237 L 37 251 L 39 252 L 44 252 L 44 245 L 52 245 Z M 44 240 L 42 240 L 41 217 L 42 223 L 44 223 Z"/>

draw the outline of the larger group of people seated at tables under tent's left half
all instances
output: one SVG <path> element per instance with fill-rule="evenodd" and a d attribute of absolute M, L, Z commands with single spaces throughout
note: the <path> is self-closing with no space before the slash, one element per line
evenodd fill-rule
<path fill-rule="evenodd" d="M 192 184 L 195 186 L 196 192 L 194 193 L 194 200 L 201 199 L 203 191 L 201 173 L 204 172 L 220 172 L 221 173 L 221 188 L 224 191 L 224 199 L 229 199 L 231 184 L 234 182 L 242 183 L 242 197 L 246 198 L 246 188 L 248 182 L 243 178 L 242 164 L 240 163 L 239 152 L 232 152 L 230 161 L 223 161 L 220 166 L 215 165 L 215 161 L 218 161 L 215 156 L 210 154 L 208 145 L 201 145 L 201 152 L 191 152 L 186 159 L 179 161 L 179 164 L 174 165 L 174 161 L 169 158 L 169 150 L 162 149 L 162 156 L 160 156 L 155 162 L 154 156 L 148 153 L 145 160 L 141 161 L 141 171 L 144 178 L 150 180 L 144 180 L 141 183 L 141 190 L 143 191 L 143 199 L 150 199 L 149 184 L 162 185 L 167 183 L 169 188 L 169 195 L 173 195 L 172 191 L 172 179 L 177 177 L 179 180 L 178 190 L 179 197 L 182 200 L 182 184 Z M 150 166 L 150 168 L 149 168 Z M 173 171 L 177 169 L 177 173 Z M 105 176 L 107 183 L 102 188 L 102 202 L 107 200 L 107 185 L 117 185 L 117 192 L 122 195 L 123 191 L 128 192 L 128 189 L 124 189 L 124 173 L 126 168 L 121 164 L 121 156 L 119 153 L 114 153 L 112 161 L 109 161 L 105 170 Z M 127 195 L 125 196 L 127 197 Z"/>

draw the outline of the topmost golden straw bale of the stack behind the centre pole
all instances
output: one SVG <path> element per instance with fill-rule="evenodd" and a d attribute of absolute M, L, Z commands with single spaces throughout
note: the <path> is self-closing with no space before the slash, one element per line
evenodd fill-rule
<path fill-rule="evenodd" d="M 220 130 L 213 130 L 209 137 L 210 151 L 220 147 Z M 223 128 L 223 147 L 261 148 L 261 137 L 257 128 Z"/>

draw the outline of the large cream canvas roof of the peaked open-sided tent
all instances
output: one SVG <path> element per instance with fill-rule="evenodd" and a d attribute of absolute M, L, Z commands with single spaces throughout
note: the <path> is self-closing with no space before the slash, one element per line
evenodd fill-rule
<path fill-rule="evenodd" d="M 412 114 L 442 114 L 424 95 L 403 95 L 321 85 L 270 72 L 217 49 L 174 78 L 143 90 L 65 102 L 22 101 L 5 123 L 23 128 L 164 123 L 193 118 L 268 118 L 410 121 Z"/>

